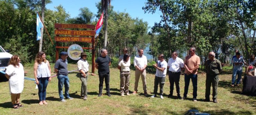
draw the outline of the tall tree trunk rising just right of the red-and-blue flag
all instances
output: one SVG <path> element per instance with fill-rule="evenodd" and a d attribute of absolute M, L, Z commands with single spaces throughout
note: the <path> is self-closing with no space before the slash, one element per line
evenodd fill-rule
<path fill-rule="evenodd" d="M 105 20 L 104 20 L 104 48 L 107 48 L 107 39 L 108 39 L 108 0 L 105 0 Z"/>

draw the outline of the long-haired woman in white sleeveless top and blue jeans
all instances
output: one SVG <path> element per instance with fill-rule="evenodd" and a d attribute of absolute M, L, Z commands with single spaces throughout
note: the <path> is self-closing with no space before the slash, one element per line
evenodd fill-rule
<path fill-rule="evenodd" d="M 34 76 L 38 86 L 39 105 L 47 104 L 46 87 L 48 81 L 51 81 L 51 67 L 43 51 L 38 52 L 34 63 Z"/>

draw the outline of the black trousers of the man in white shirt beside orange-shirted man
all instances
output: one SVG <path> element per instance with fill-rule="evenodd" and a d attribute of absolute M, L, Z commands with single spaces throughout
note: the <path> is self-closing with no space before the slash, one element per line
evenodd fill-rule
<path fill-rule="evenodd" d="M 171 95 L 173 94 L 173 87 L 174 87 L 174 83 L 175 83 L 177 96 L 180 96 L 180 86 L 179 86 L 180 72 L 173 73 L 173 72 L 169 71 L 169 82 L 170 82 L 170 94 Z"/>

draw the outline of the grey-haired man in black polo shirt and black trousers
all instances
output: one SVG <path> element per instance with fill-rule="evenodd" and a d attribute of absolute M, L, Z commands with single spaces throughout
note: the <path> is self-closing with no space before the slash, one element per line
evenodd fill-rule
<path fill-rule="evenodd" d="M 103 81 L 105 78 L 105 84 L 106 84 L 106 91 L 107 95 L 110 95 L 110 89 L 109 89 L 109 66 L 111 64 L 111 59 L 108 56 L 108 52 L 106 49 L 100 50 L 101 55 L 96 59 L 95 61 L 95 68 L 98 69 L 99 74 L 99 97 L 102 95 L 102 88 L 103 88 Z"/>

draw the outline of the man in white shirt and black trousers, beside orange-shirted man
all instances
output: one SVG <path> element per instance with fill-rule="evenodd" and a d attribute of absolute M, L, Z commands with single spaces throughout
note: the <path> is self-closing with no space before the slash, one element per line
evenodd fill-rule
<path fill-rule="evenodd" d="M 168 97 L 173 95 L 173 86 L 175 83 L 176 92 L 179 99 L 180 96 L 180 73 L 184 69 L 184 61 L 178 57 L 178 53 L 175 51 L 172 53 L 172 58 L 168 60 L 167 68 L 169 68 L 169 82 L 170 82 L 170 94 Z"/>

